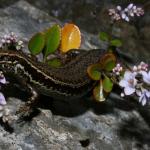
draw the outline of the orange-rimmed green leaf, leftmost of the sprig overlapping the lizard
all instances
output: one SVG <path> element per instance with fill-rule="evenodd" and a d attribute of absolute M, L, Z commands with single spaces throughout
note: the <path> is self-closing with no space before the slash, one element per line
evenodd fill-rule
<path fill-rule="evenodd" d="M 87 68 L 87 73 L 92 80 L 100 80 L 101 79 L 101 65 L 100 64 L 92 64 Z"/>

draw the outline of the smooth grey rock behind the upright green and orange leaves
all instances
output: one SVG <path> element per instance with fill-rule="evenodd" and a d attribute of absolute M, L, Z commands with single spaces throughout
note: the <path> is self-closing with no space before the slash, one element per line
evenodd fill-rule
<path fill-rule="evenodd" d="M 59 20 L 50 17 L 47 13 L 36 9 L 25 1 L 20 1 L 11 7 L 1 9 L 0 22 L 2 25 L 0 28 L 1 36 L 13 31 L 19 38 L 23 38 L 25 42 L 28 42 L 28 39 L 36 32 L 42 31 L 54 24 L 63 25 Z M 93 45 L 91 44 L 91 41 L 95 41 L 95 39 L 94 35 L 85 33 L 85 36 L 82 37 L 81 48 L 98 48 L 100 46 L 99 41 L 96 42 L 97 45 L 95 45 L 95 42 Z"/>

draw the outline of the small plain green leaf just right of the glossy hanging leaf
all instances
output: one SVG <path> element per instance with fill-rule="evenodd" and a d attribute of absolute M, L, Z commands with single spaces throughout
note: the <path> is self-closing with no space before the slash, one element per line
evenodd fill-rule
<path fill-rule="evenodd" d="M 107 76 L 105 76 L 105 78 L 103 80 L 103 88 L 104 88 L 104 91 L 107 92 L 107 93 L 112 91 L 113 82 Z"/>

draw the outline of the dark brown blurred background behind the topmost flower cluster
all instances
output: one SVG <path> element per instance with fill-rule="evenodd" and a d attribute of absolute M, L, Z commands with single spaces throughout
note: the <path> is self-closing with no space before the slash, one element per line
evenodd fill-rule
<path fill-rule="evenodd" d="M 123 40 L 121 51 L 134 56 L 134 60 L 149 60 L 150 57 L 150 2 L 147 0 L 27 0 L 32 5 L 42 9 L 62 22 L 74 22 L 80 29 L 98 34 L 107 32 L 110 23 L 108 9 L 117 5 L 126 7 L 129 3 L 141 6 L 145 10 L 144 17 L 131 23 L 120 22 L 117 25 L 119 37 Z M 114 28 L 116 31 L 116 27 Z M 120 33 L 121 31 L 121 33 Z M 145 32 L 146 31 L 146 32 Z M 116 35 L 114 32 L 113 35 Z"/>

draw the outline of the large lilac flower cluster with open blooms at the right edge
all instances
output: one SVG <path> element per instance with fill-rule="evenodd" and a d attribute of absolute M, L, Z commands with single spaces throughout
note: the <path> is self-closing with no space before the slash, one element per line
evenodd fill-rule
<path fill-rule="evenodd" d="M 150 101 L 150 70 L 148 64 L 141 62 L 130 71 L 125 71 L 119 85 L 124 88 L 121 96 L 136 94 L 139 102 L 145 105 Z"/>

